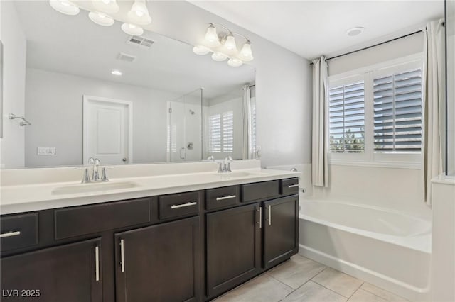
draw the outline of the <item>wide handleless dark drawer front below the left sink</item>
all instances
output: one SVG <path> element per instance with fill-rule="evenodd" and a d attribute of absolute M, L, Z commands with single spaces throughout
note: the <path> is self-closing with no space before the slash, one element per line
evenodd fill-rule
<path fill-rule="evenodd" d="M 151 198 L 55 210 L 55 239 L 63 239 L 150 221 Z"/>

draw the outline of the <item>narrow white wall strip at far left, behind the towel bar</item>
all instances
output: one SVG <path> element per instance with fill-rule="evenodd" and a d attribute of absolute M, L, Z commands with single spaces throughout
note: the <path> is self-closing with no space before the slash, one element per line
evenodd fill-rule
<path fill-rule="evenodd" d="M 4 45 L 3 138 L 1 167 L 24 166 L 24 133 L 18 120 L 8 119 L 10 113 L 24 115 L 26 80 L 26 37 L 18 22 L 13 1 L 1 1 L 1 41 Z M 27 117 L 27 116 L 26 116 Z"/>

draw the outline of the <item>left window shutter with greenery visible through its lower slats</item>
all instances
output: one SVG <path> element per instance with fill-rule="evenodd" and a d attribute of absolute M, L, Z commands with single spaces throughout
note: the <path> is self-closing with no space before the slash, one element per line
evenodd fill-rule
<path fill-rule="evenodd" d="M 330 151 L 365 152 L 365 84 L 363 81 L 329 89 Z"/>

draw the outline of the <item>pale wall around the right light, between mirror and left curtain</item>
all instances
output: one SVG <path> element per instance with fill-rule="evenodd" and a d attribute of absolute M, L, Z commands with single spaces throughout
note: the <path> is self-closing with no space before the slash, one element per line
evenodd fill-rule
<path fill-rule="evenodd" d="M 151 1 L 149 9 L 157 33 L 192 45 L 200 44 L 207 23 L 212 22 L 247 35 L 255 56 L 251 65 L 256 67 L 257 145 L 262 147 L 262 166 L 311 162 L 308 60 L 185 1 Z"/>

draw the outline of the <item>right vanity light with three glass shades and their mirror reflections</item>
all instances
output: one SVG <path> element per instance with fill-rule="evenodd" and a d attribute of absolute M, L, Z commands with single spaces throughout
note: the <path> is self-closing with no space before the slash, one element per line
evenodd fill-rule
<path fill-rule="evenodd" d="M 217 33 L 216 26 L 223 28 L 226 32 Z M 237 49 L 237 41 L 235 35 L 240 35 L 246 42 L 242 45 L 240 52 Z M 251 42 L 245 35 L 233 33 L 229 28 L 218 24 L 209 23 L 207 32 L 205 33 L 203 45 L 193 47 L 193 52 L 196 55 L 206 55 L 212 53 L 212 59 L 215 61 L 224 61 L 229 58 L 228 65 L 231 67 L 242 66 L 244 62 L 253 60 Z"/>

